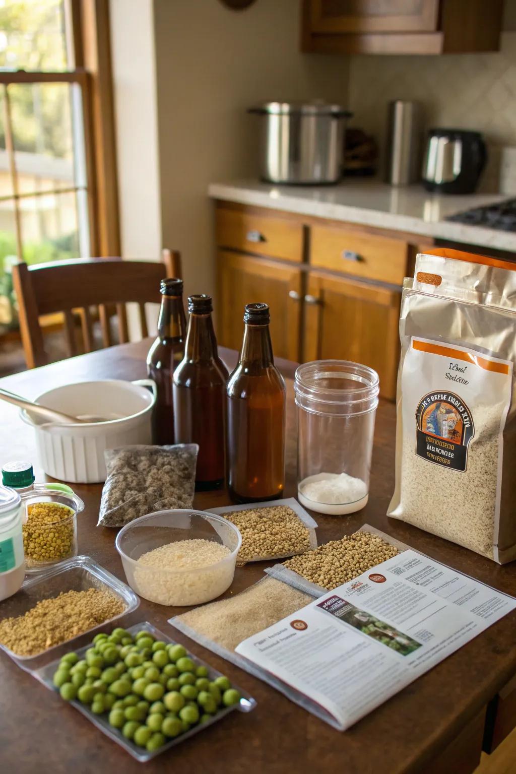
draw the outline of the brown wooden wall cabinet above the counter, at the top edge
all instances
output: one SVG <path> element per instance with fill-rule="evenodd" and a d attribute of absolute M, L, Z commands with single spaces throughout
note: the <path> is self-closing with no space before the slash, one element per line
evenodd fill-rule
<path fill-rule="evenodd" d="M 497 51 L 502 0 L 302 0 L 302 50 L 439 54 Z M 488 8 L 487 8 L 488 6 Z"/>

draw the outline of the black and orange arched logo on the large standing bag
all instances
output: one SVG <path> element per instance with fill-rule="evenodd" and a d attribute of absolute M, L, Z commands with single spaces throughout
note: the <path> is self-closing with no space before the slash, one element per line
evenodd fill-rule
<path fill-rule="evenodd" d="M 470 409 L 454 392 L 429 392 L 415 412 L 415 454 L 454 471 L 465 471 L 475 429 Z"/>

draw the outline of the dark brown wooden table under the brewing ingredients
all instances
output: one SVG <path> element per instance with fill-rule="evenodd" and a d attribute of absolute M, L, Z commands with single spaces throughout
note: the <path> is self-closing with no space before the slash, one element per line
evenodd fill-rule
<path fill-rule="evenodd" d="M 47 389 L 70 382 L 145 376 L 149 340 L 84 354 L 0 380 L 0 386 L 33 399 Z M 229 367 L 233 351 L 221 349 Z M 296 495 L 296 417 L 292 378 L 296 364 L 277 361 L 287 383 L 287 447 L 285 495 Z M 394 487 L 395 406 L 381 401 L 376 416 L 369 502 L 348 516 L 313 514 L 318 543 L 353 533 L 370 524 L 409 546 L 508 594 L 516 594 L 516 566 L 501 567 L 469 550 L 439 539 L 386 512 Z M 17 409 L 0 402 L 0 464 L 29 459 L 36 478 L 43 479 L 36 458 L 33 431 Z M 73 485 L 84 500 L 78 519 L 79 553 L 93 557 L 125 580 L 114 548 L 116 530 L 97 527 L 102 485 Z M 206 509 L 229 504 L 226 491 L 197 494 L 194 505 Z M 450 519 L 453 510 L 450 505 Z M 238 567 L 226 596 L 250 586 L 270 563 Z M 196 656 L 226 673 L 258 702 L 250 714 L 231 713 L 151 762 L 140 764 L 101 734 L 77 712 L 0 652 L 0 760 L 3 772 L 436 772 L 462 774 L 475 769 L 483 738 L 490 743 L 498 707 L 511 704 L 507 683 L 516 674 L 516 612 L 490 626 L 439 666 L 419 677 L 395 697 L 340 733 L 292 703 L 278 691 L 214 653 L 191 642 L 168 623 L 185 608 L 166 608 L 142 599 L 120 625 L 149 621 L 182 642 Z M 2 604 L 0 603 L 0 617 Z M 505 693 L 504 693 L 504 687 Z M 497 694 L 502 691 L 502 699 Z M 498 703 L 498 704 L 497 704 Z M 497 727 L 498 728 L 498 727 Z"/>

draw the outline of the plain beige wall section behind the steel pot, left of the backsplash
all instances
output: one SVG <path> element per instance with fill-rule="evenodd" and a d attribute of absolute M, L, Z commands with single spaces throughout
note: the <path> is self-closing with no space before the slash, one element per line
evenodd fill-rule
<path fill-rule="evenodd" d="M 347 101 L 347 60 L 299 53 L 299 0 L 154 0 L 163 245 L 183 253 L 186 292 L 213 293 L 216 180 L 256 176 L 266 99 Z"/>

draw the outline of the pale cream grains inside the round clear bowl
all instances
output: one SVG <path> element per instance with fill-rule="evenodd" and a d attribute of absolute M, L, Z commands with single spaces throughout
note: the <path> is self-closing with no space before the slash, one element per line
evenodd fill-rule
<path fill-rule="evenodd" d="M 231 585 L 236 557 L 222 561 L 230 553 L 214 540 L 167 543 L 142 554 L 131 585 L 141 597 L 158 604 L 202 604 Z"/>

